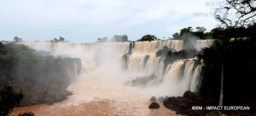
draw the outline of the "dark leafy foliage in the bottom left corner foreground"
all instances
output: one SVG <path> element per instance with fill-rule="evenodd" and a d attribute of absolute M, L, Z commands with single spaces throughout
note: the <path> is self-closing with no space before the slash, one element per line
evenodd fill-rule
<path fill-rule="evenodd" d="M 10 84 L 5 85 L 0 90 L 0 115 L 9 116 L 10 111 L 20 104 L 20 101 L 23 99 L 24 92 L 14 91 Z"/>

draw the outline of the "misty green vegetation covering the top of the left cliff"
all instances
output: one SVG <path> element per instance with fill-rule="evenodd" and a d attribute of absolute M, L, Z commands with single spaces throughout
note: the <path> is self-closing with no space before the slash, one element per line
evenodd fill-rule
<path fill-rule="evenodd" d="M 44 65 L 51 66 L 54 65 L 55 61 L 58 61 L 49 52 L 36 51 L 25 45 L 0 43 L 0 48 L 0 85 L 10 83 L 8 80 L 12 79 L 22 79 L 19 81 L 24 82 L 26 80 L 34 83 L 33 80 L 37 77 L 35 75 L 42 73 L 40 66 L 48 67 Z M 47 62 L 45 63 L 45 61 Z M 39 63 L 42 64 L 38 66 Z"/>

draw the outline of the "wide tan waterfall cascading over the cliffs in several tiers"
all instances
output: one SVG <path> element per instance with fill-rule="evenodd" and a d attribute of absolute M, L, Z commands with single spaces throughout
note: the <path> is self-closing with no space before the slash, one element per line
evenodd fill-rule
<path fill-rule="evenodd" d="M 194 46 L 196 48 L 207 47 L 212 42 L 213 40 L 197 40 Z M 17 44 L 28 45 L 36 50 L 49 51 L 54 56 L 68 54 L 71 58 L 80 58 L 81 71 L 84 73 L 95 71 L 100 67 L 98 64 L 107 65 L 107 68 L 110 67 L 107 69 L 109 72 L 112 71 L 112 67 L 117 72 L 118 68 L 116 67 L 119 66 L 119 60 L 126 54 L 126 61 L 123 63 L 126 65 L 124 73 L 130 74 L 130 78 L 136 78 L 138 75 L 156 75 L 157 80 L 161 81 L 159 86 L 169 88 L 173 91 L 171 95 L 174 96 L 182 95 L 187 90 L 198 91 L 201 83 L 202 65 L 197 65 L 192 59 L 180 59 L 168 63 L 165 61 L 165 57 L 156 57 L 156 52 L 163 49 L 164 46 L 174 48 L 176 51 L 182 50 L 183 40 L 114 43 L 18 42 Z M 196 69 L 194 70 L 193 67 Z M 118 71 L 121 71 L 121 67 L 119 69 Z M 75 75 L 78 76 L 75 62 L 74 70 Z M 99 70 L 106 70 L 106 67 Z M 69 71 L 72 73 L 71 69 Z"/>

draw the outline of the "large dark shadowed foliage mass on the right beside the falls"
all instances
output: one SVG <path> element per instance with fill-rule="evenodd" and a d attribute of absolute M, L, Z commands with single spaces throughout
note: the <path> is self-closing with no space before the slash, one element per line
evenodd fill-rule
<path fill-rule="evenodd" d="M 214 41 L 211 46 L 203 48 L 197 53 L 197 57 L 203 59 L 204 62 L 200 91 L 203 95 L 219 99 L 223 64 L 224 101 L 234 103 L 234 101 L 249 100 L 256 95 L 255 92 L 248 89 L 254 88 L 256 81 L 253 77 L 256 70 L 255 36 L 235 40 L 230 40 L 229 37 L 232 35 L 229 34 L 222 36 L 223 39 Z"/>

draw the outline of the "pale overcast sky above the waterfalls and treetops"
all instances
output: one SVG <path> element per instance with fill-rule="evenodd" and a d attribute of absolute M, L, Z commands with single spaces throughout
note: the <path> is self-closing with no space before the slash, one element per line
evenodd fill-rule
<path fill-rule="evenodd" d="M 214 2 L 214 0 L 212 0 Z M 215 0 L 216 1 L 216 0 Z M 194 13 L 214 12 L 207 0 L 0 0 L 0 40 L 14 36 L 24 41 L 64 37 L 70 42 L 95 42 L 99 37 L 146 34 L 172 37 L 192 26 L 216 27 L 213 17 Z"/>

